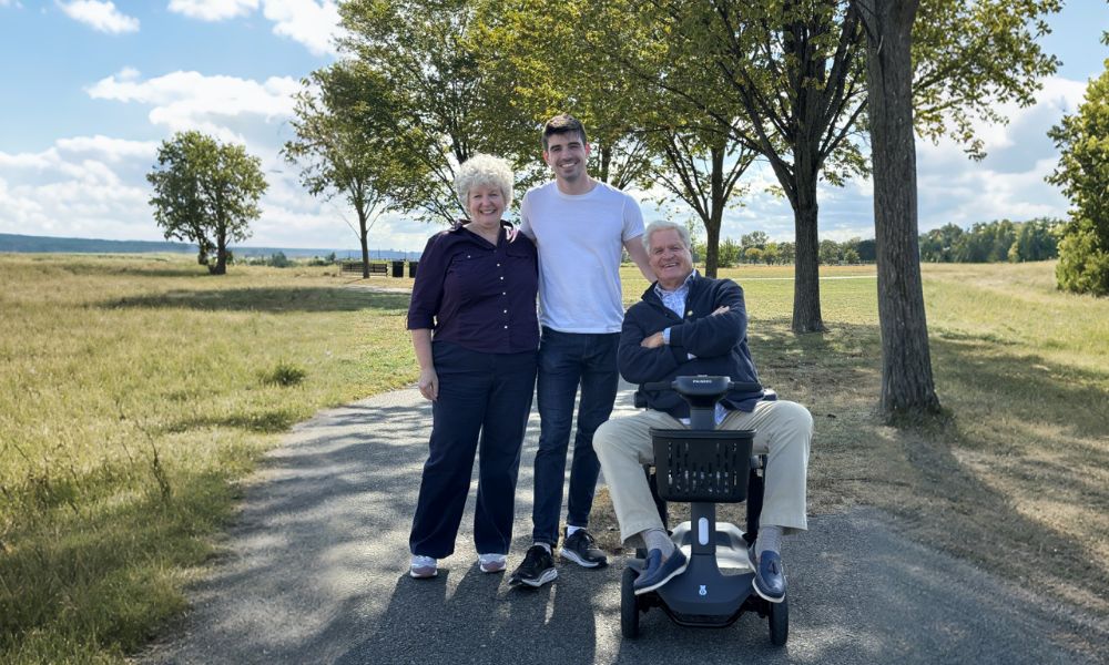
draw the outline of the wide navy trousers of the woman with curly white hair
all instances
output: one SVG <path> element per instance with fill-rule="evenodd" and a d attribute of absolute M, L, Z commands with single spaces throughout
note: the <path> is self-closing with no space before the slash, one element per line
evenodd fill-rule
<path fill-rule="evenodd" d="M 507 554 L 537 352 L 484 354 L 450 342 L 433 342 L 431 352 L 439 398 L 408 546 L 436 559 L 455 552 L 480 444 L 474 544 L 480 554 Z"/>

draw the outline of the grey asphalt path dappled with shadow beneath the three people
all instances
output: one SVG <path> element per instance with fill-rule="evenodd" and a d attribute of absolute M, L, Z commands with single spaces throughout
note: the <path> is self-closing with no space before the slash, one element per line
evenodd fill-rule
<path fill-rule="evenodd" d="M 622 386 L 615 415 L 632 412 Z M 530 544 L 532 413 L 509 567 Z M 682 628 L 659 610 L 620 635 L 623 560 L 560 565 L 539 590 L 478 570 L 471 489 L 457 551 L 431 581 L 407 575 L 408 529 L 430 408 L 415 389 L 318 413 L 247 484 L 192 610 L 141 663 L 1098 663 L 1109 628 L 1027 586 L 908 540 L 884 514 L 818 515 L 783 551 L 790 640 L 745 614 Z M 818 446 L 817 439 L 814 446 Z M 474 480 L 476 483 L 476 478 Z M 984 534 L 988 538 L 988 534 Z"/>

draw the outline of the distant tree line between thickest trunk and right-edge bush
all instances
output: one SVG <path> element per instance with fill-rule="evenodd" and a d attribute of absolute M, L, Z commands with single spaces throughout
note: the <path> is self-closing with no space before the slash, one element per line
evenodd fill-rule
<path fill-rule="evenodd" d="M 920 235 L 920 260 L 927 263 L 1021 263 L 1059 256 L 1062 221 L 995 219 L 968 229 L 945 224 Z"/>

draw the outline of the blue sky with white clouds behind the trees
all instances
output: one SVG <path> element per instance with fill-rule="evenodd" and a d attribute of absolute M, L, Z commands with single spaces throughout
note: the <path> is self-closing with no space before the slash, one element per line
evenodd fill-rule
<path fill-rule="evenodd" d="M 263 160 L 271 187 L 247 245 L 357 247 L 349 213 L 308 196 L 277 155 L 292 137 L 289 95 L 335 58 L 336 21 L 332 0 L 0 0 L 0 233 L 161 239 L 143 175 L 159 142 L 199 129 Z M 922 229 L 1066 215 L 1067 201 L 1042 180 L 1058 158 L 1046 132 L 1103 71 L 1109 7 L 1069 0 L 1050 24 L 1042 44 L 1064 64 L 1036 105 L 1008 109 L 1006 126 L 979 127 L 985 161 L 918 140 Z M 791 239 L 787 203 L 761 193 L 771 174 L 756 168 L 749 181 L 755 193 L 728 214 L 723 236 Z M 869 193 L 865 181 L 822 187 L 821 236 L 873 237 Z M 664 214 L 650 203 L 644 213 Z M 370 246 L 418 250 L 433 231 L 388 215 Z"/>

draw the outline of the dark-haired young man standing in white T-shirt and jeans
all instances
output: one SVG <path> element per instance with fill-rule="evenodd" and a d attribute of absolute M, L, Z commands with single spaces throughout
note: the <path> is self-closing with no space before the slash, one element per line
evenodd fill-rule
<path fill-rule="evenodd" d="M 573 402 L 581 387 L 578 431 L 570 466 L 567 529 L 561 556 L 584 567 L 608 563 L 586 530 L 600 462 L 593 432 L 615 401 L 617 345 L 623 320 L 620 258 L 628 249 L 653 280 L 640 242 L 643 214 L 628 194 L 590 177 L 589 143 L 570 115 L 543 126 L 543 161 L 554 182 L 535 187 L 520 206 L 520 231 L 539 249 L 539 450 L 536 453 L 532 540 L 510 584 L 542 586 L 558 577 L 553 548 L 559 540 L 562 487 Z"/>

